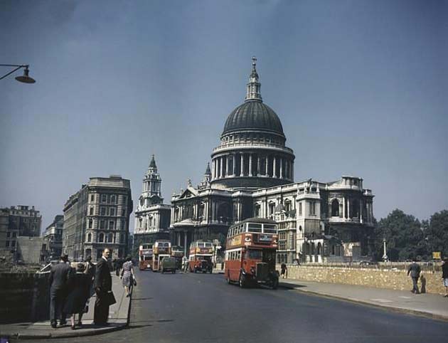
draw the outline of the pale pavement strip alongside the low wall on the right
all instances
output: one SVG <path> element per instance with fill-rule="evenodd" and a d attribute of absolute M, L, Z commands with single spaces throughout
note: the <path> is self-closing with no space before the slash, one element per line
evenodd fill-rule
<path fill-rule="evenodd" d="M 385 307 L 388 310 L 423 315 L 432 319 L 448 320 L 448 297 L 442 295 L 413 294 L 404 290 L 385 290 L 383 288 L 292 279 L 280 279 L 279 281 L 279 287 L 291 288 L 299 292 Z"/>

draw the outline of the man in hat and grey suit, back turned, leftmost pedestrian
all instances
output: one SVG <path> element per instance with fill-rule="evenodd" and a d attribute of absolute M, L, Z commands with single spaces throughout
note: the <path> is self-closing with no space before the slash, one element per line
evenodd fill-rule
<path fill-rule="evenodd" d="M 50 272 L 50 324 L 54 329 L 58 325 L 67 324 L 66 315 L 63 312 L 64 301 L 67 291 L 68 278 L 70 276 L 70 265 L 67 264 L 68 256 L 61 255 L 59 263 L 51 267 Z"/>

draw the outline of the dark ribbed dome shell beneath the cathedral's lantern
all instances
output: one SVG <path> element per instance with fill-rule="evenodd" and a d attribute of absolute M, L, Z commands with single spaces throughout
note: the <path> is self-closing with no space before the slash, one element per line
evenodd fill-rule
<path fill-rule="evenodd" d="M 284 136 L 282 122 L 271 107 L 260 100 L 247 100 L 228 116 L 223 134 L 241 129 L 258 129 Z"/>

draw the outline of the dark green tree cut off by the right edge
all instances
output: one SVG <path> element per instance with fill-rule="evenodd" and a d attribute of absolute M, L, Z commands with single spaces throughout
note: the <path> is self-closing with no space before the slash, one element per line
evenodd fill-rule
<path fill-rule="evenodd" d="M 448 257 L 448 210 L 434 213 L 425 230 L 427 245 L 432 251 L 440 251 L 442 258 Z"/>

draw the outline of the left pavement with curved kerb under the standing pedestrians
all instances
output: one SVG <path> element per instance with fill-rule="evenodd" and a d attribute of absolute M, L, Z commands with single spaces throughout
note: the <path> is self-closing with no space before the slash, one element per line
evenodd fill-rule
<path fill-rule="evenodd" d="M 62 337 L 82 337 L 104 334 L 124 329 L 129 323 L 131 297 L 126 297 L 121 280 L 112 273 L 112 292 L 117 302 L 109 307 L 109 325 L 98 327 L 93 324 L 93 312 L 96 296 L 92 295 L 89 302 L 89 312 L 82 316 L 82 327 L 72 330 L 70 318 L 63 327 L 53 329 L 50 320 L 42 322 L 24 322 L 14 324 L 0 324 L 0 338 L 16 339 L 45 339 Z"/>

